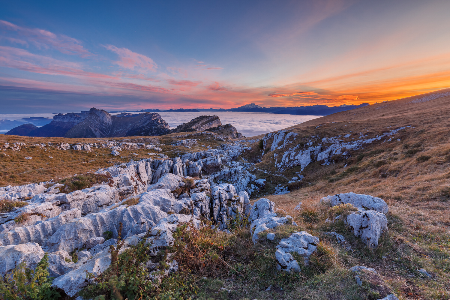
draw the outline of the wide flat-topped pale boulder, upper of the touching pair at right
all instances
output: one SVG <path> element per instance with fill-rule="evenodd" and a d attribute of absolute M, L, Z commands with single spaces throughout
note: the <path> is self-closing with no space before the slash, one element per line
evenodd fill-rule
<path fill-rule="evenodd" d="M 320 199 L 320 202 L 328 202 L 331 204 L 331 206 L 349 203 L 355 207 L 364 208 L 365 210 L 376 210 L 383 214 L 387 214 L 387 212 L 389 211 L 389 207 L 387 207 L 387 204 L 383 199 L 370 195 L 361 195 L 355 193 L 343 193 L 323 197 L 322 199 Z"/>

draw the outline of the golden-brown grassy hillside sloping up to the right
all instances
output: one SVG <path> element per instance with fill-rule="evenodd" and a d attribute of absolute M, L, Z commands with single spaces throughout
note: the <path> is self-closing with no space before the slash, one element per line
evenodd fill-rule
<path fill-rule="evenodd" d="M 450 97 L 408 103 L 419 98 L 416 96 L 339 112 L 290 128 L 303 137 L 319 135 L 323 138 L 357 133 L 349 137 L 349 141 L 356 139 L 361 132 L 369 132 L 367 138 L 372 138 L 389 126 L 392 126 L 390 129 L 405 125 L 414 127 L 397 134 L 392 142 L 383 143 L 381 140 L 371 143 L 351 153 L 352 157 L 348 160 L 337 161 L 329 166 L 314 162 L 302 172 L 306 177 L 299 189 L 287 195 L 267 196 L 275 201 L 276 206 L 294 214 L 297 223 L 304 224 L 308 232 L 316 235 L 330 231 L 326 229 L 328 225 L 323 223 L 325 212 L 318 204 L 319 199 L 326 195 L 348 192 L 370 194 L 387 201 L 391 211 L 388 214 L 390 233 L 375 251 L 367 251 L 352 242 L 355 252 L 348 253 L 336 243 L 329 243 L 321 237 L 322 242 L 334 247 L 338 257 L 337 269 L 309 278 L 288 296 L 266 292 L 263 298 L 358 299 L 348 292 L 355 291 L 355 287 L 352 281 L 346 279 L 348 274 L 344 271 L 353 264 L 377 269 L 401 299 L 450 298 Z M 247 158 L 261 158 L 262 149 L 257 142 L 252 145 L 252 149 L 251 153 L 247 153 Z M 273 153 L 268 152 L 257 167 L 279 174 L 274 166 Z M 349 172 L 351 167 L 354 171 Z M 300 169 L 294 167 L 280 175 L 291 178 L 298 171 Z M 262 171 L 258 175 L 272 181 L 274 185 L 287 183 L 287 179 Z M 299 201 L 307 203 L 308 208 L 303 213 L 293 210 Z M 317 215 L 318 219 L 309 221 L 311 215 Z M 342 228 L 336 230 L 346 235 Z M 351 240 L 351 236 L 347 237 Z M 344 257 L 347 259 L 342 260 Z M 424 279 L 416 271 L 421 268 L 436 276 L 431 280 Z M 308 291 L 311 294 L 305 296 L 311 282 L 327 282 L 330 276 L 334 277 L 331 285 L 316 285 L 314 291 Z M 367 299 L 368 296 L 360 297 Z"/>

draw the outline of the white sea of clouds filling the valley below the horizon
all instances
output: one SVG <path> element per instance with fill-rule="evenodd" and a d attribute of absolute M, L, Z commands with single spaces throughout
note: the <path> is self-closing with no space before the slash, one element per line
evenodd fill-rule
<path fill-rule="evenodd" d="M 138 113 L 138 112 L 131 112 Z M 271 131 L 280 130 L 286 127 L 297 125 L 299 123 L 319 118 L 320 116 L 292 116 L 285 114 L 275 114 L 266 112 L 158 112 L 161 117 L 169 123 L 171 127 L 176 127 L 195 117 L 202 115 L 219 116 L 222 124 L 231 124 L 245 135 L 247 138 L 259 134 L 266 134 Z M 117 113 L 112 113 L 116 115 Z M 52 113 L 38 114 L 0 114 L 0 119 L 17 120 L 30 116 L 43 116 L 53 118 Z M 8 130 L 0 130 L 4 133 Z"/>

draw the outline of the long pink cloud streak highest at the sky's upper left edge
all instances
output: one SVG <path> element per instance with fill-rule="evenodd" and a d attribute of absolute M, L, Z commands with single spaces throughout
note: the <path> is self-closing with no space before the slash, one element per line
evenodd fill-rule
<path fill-rule="evenodd" d="M 79 40 L 65 35 L 56 35 L 53 32 L 39 28 L 20 27 L 4 20 L 0 20 L 0 29 L 15 32 L 18 36 L 22 36 L 39 49 L 52 48 L 63 54 L 79 55 L 83 58 L 94 55 L 84 49 L 83 46 L 80 45 Z M 15 38 L 13 39 L 17 40 Z"/>

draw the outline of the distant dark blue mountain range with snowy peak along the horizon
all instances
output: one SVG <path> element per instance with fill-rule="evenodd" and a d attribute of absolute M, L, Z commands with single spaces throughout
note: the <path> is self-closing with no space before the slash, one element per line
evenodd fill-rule
<path fill-rule="evenodd" d="M 229 109 L 224 108 L 179 108 L 179 109 L 169 109 L 169 110 L 159 110 L 159 109 L 142 109 L 140 111 L 111 111 L 110 113 L 116 112 L 267 112 L 267 113 L 281 113 L 287 115 L 296 116 L 327 116 L 335 112 L 343 112 L 358 107 L 367 106 L 369 103 L 361 103 L 360 105 L 346 105 L 332 106 L 327 105 L 308 105 L 308 106 L 296 106 L 296 107 L 261 107 L 255 103 L 246 104 L 240 107 L 234 107 Z"/>

